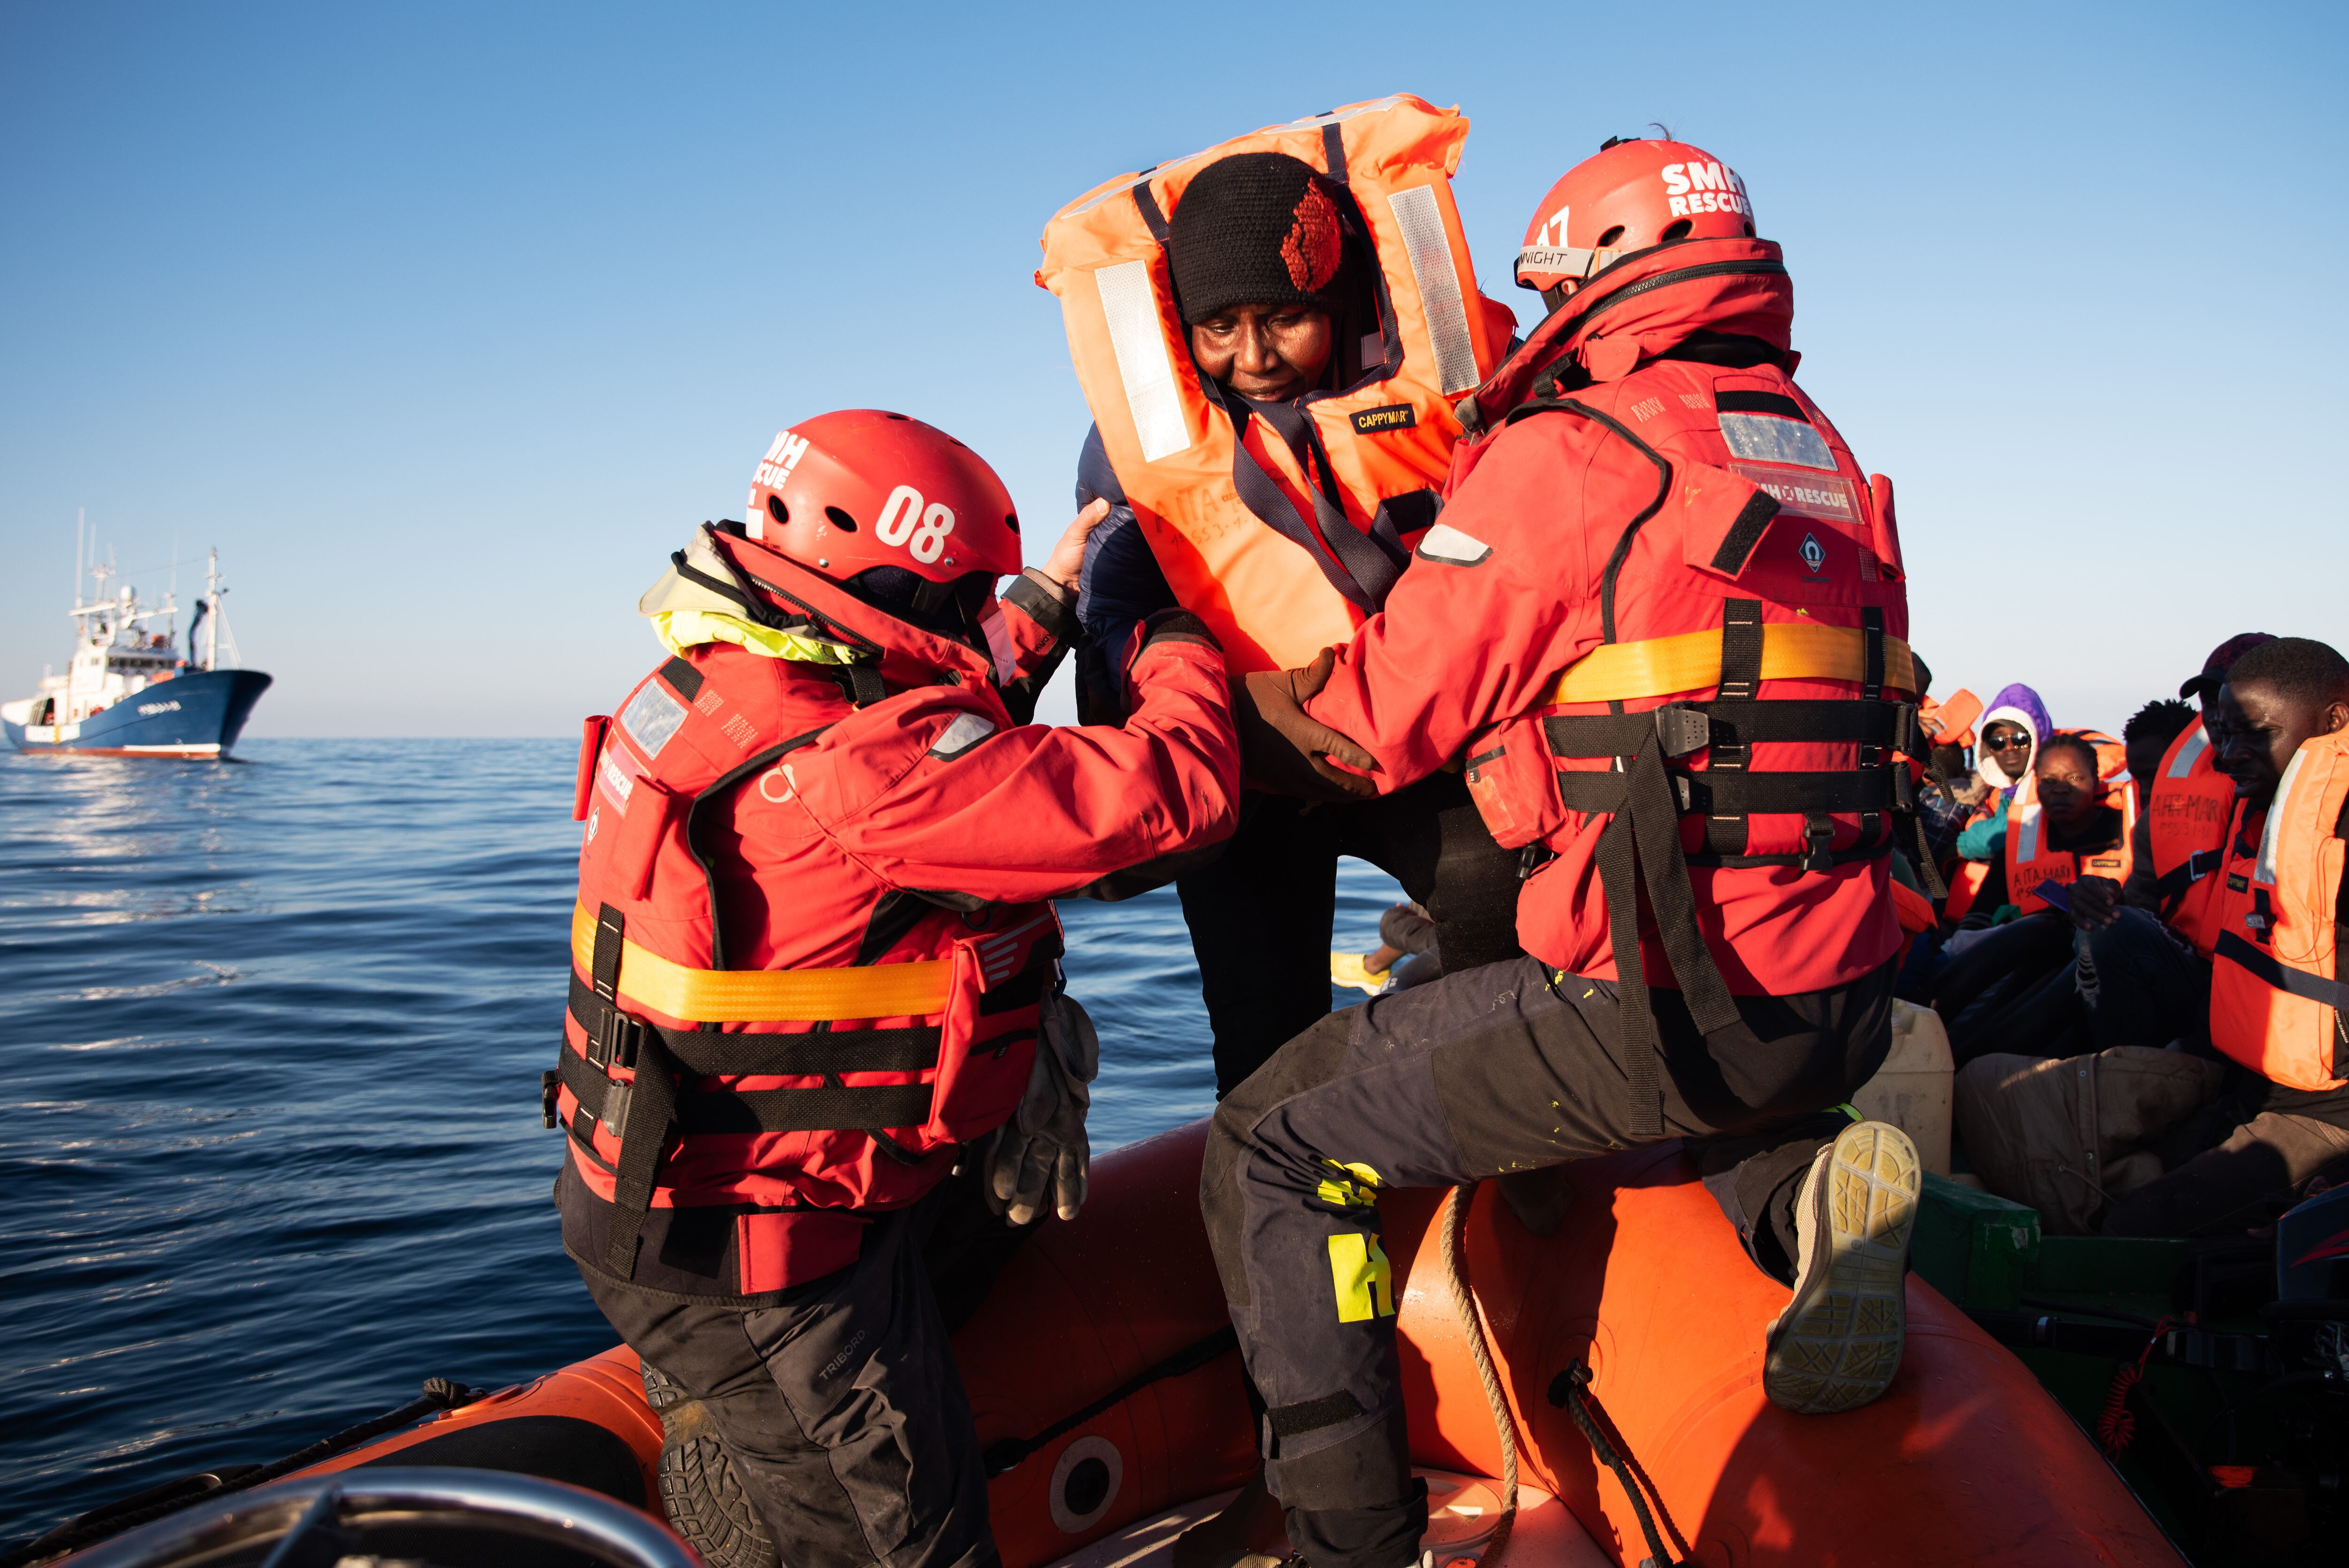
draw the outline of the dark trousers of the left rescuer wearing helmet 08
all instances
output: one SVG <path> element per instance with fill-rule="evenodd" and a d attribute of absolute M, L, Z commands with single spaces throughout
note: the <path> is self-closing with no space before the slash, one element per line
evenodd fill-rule
<path fill-rule="evenodd" d="M 691 1302 L 583 1267 L 630 1347 L 700 1399 L 789 1568 L 989 1568 L 987 1474 L 923 1248 L 991 1253 L 958 1192 L 876 1215 L 862 1255 L 763 1309 Z M 987 1218 L 984 1213 L 980 1218 Z M 1001 1232 L 1001 1225 L 994 1229 Z M 970 1274 L 949 1262 L 949 1276 Z M 984 1279 L 954 1295 L 984 1295 Z"/>

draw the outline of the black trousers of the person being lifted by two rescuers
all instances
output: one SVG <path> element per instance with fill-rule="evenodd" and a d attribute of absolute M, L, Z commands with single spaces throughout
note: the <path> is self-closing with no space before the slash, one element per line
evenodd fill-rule
<path fill-rule="evenodd" d="M 1224 853 L 1174 882 L 1217 1095 L 1330 1011 L 1339 856 L 1369 860 L 1428 910 L 1445 969 L 1517 957 L 1520 856 L 1492 842 L 1459 773 L 1344 804 L 1250 792 Z"/>

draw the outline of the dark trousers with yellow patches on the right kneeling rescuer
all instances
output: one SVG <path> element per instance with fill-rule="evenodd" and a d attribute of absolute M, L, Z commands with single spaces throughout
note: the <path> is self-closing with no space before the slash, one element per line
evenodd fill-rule
<path fill-rule="evenodd" d="M 1849 1126 L 1830 1107 L 1891 1048 L 1891 999 L 1893 964 L 1738 997 L 1759 1044 L 1715 1060 L 1680 992 L 1654 992 L 1665 1135 L 1701 1140 L 1705 1187 L 1781 1276 L 1802 1178 Z M 1332 1013 L 1217 1107 L 1207 1241 L 1266 1406 L 1266 1479 L 1313 1568 L 1402 1568 L 1426 1530 L 1374 1194 L 1607 1154 L 1630 1126 L 1614 985 L 1525 957 Z"/>

